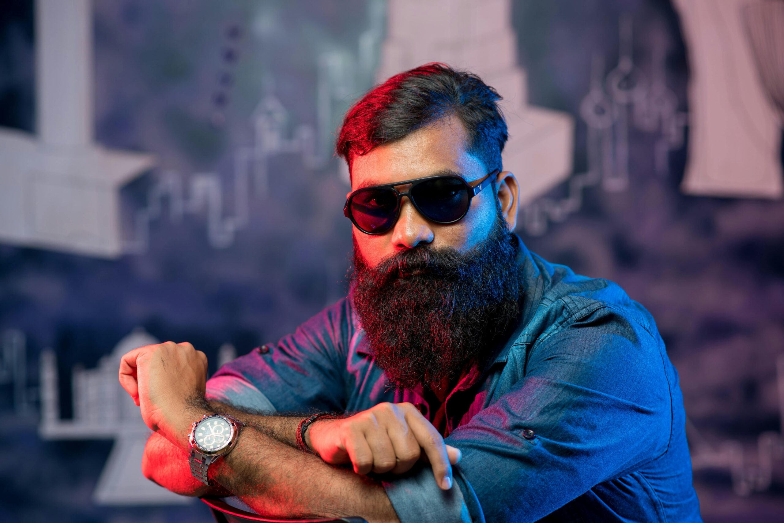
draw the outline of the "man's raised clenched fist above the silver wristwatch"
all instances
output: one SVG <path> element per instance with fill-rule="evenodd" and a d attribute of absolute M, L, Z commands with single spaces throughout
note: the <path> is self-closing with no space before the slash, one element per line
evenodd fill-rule
<path fill-rule="evenodd" d="M 183 448 L 200 415 L 188 401 L 204 398 L 206 381 L 207 356 L 190 343 L 135 348 L 120 361 L 120 384 L 140 406 L 144 423 Z"/>

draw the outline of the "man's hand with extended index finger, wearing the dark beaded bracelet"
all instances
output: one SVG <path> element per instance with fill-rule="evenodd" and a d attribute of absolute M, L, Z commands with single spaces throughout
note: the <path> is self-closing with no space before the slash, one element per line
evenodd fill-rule
<path fill-rule="evenodd" d="M 422 458 L 444 490 L 452 488 L 452 465 L 460 460 L 459 449 L 446 445 L 411 403 L 384 402 L 352 417 L 316 420 L 305 443 L 327 463 L 353 463 L 357 474 L 401 474 Z"/>

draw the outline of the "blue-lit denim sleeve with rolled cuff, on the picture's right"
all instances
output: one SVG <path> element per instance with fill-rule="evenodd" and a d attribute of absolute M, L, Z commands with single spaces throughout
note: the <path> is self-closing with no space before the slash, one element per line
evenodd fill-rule
<path fill-rule="evenodd" d="M 445 438 L 463 454 L 460 496 L 436 492 L 429 467 L 430 482 L 385 485 L 401 522 L 537 521 L 661 456 L 672 418 L 659 340 L 608 309 L 539 339 L 524 377 Z M 416 513 L 428 504 L 440 518 Z"/>

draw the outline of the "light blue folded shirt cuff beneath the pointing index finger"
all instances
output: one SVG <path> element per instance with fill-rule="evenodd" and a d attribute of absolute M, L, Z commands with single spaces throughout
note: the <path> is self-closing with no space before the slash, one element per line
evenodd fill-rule
<path fill-rule="evenodd" d="M 457 474 L 457 467 L 452 471 Z M 463 500 L 459 482 L 452 489 L 441 490 L 436 484 L 433 469 L 419 462 L 405 474 L 386 476 L 384 490 L 401 523 L 472 523 Z"/>

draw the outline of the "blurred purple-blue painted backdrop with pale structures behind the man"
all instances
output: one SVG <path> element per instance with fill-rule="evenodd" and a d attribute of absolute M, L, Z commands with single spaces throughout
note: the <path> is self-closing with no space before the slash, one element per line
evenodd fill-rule
<path fill-rule="evenodd" d="M 784 519 L 781 0 L 4 0 L 0 520 L 212 521 L 119 356 L 214 372 L 341 298 L 336 128 L 431 61 L 503 96 L 528 247 L 658 322 L 703 518 Z"/>

